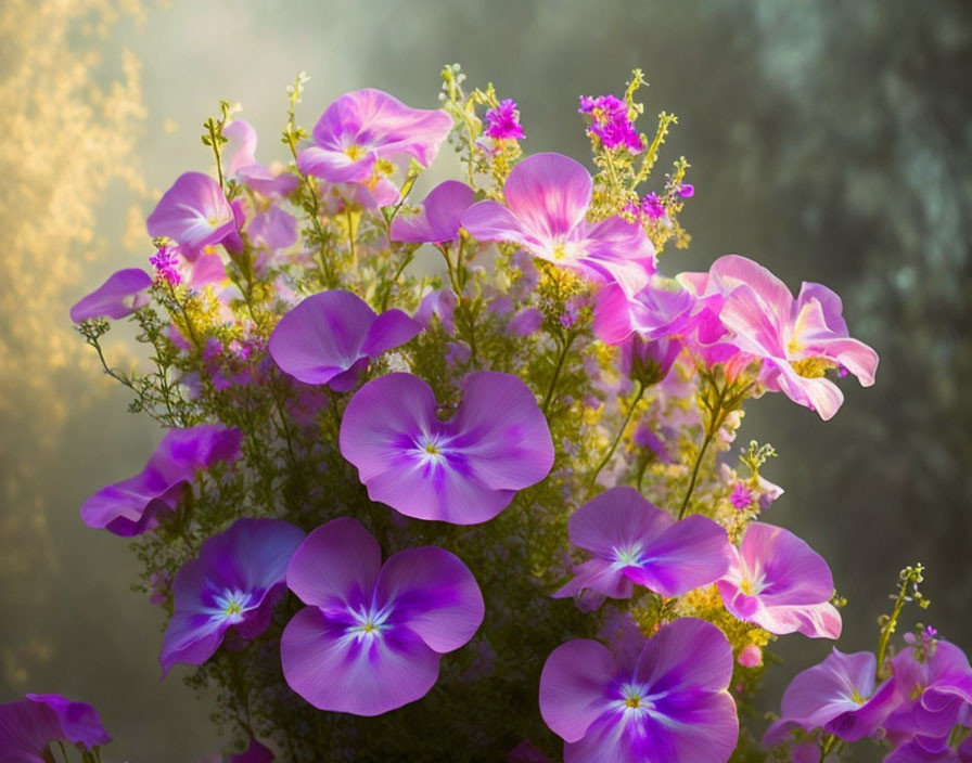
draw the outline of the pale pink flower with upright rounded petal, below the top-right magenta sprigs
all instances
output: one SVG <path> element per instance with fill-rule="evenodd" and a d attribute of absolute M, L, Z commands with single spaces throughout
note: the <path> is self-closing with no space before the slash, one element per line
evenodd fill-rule
<path fill-rule="evenodd" d="M 654 247 L 640 225 L 621 217 L 588 223 L 591 190 L 590 174 L 579 163 L 537 154 L 507 178 L 506 207 L 478 202 L 462 216 L 462 227 L 481 241 L 519 244 L 534 257 L 598 283 L 617 283 L 634 295 L 655 270 Z"/>

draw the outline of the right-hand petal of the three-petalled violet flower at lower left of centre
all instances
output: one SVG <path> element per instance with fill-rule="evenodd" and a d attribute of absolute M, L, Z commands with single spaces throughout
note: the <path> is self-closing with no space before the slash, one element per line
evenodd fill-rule
<path fill-rule="evenodd" d="M 466 644 L 485 613 L 473 573 L 453 554 L 432 546 L 388 558 L 379 574 L 375 606 L 393 607 L 395 621 L 439 654 Z"/>

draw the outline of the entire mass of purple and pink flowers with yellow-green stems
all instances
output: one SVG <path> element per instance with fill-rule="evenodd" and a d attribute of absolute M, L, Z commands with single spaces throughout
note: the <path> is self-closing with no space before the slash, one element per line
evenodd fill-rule
<path fill-rule="evenodd" d="M 840 297 L 758 263 L 675 273 L 693 193 L 623 96 L 581 98 L 591 172 L 525 156 L 516 104 L 443 72 L 442 107 L 379 90 L 286 164 L 220 105 L 215 172 L 176 179 L 127 269 L 72 320 L 131 410 L 165 428 L 142 471 L 81 506 L 130 539 L 168 613 L 163 674 L 219 689 L 223 761 L 972 760 L 972 669 L 918 626 L 798 674 L 757 737 L 769 647 L 836 639 L 824 559 L 771 521 L 769 445 L 743 405 L 782 392 L 829 419 L 874 382 Z M 578 127 L 580 129 L 580 127 Z M 421 199 L 450 142 L 462 180 Z M 666 274 L 667 272 L 667 274 Z M 127 318 L 151 355 L 105 358 Z M 762 729 L 760 729 L 762 730 Z M 110 740 L 88 704 L 0 706 L 0 761 Z M 963 741 L 964 740 L 964 741 Z M 4 756 L 7 755 L 7 756 Z"/>

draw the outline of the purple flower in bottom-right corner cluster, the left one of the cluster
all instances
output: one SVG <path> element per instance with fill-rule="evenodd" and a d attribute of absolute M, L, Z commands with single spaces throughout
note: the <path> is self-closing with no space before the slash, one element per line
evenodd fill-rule
<path fill-rule="evenodd" d="M 822 728 L 846 741 L 875 734 L 894 698 L 890 681 L 875 685 L 877 668 L 869 651 L 845 655 L 834 649 L 790 682 L 781 717 L 767 729 L 764 743 L 778 745 L 796 727 Z"/>

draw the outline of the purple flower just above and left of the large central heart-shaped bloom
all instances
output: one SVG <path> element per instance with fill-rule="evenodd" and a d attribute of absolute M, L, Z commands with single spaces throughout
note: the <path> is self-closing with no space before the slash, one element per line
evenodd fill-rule
<path fill-rule="evenodd" d="M 372 358 L 420 331 L 401 310 L 378 315 L 350 292 L 321 292 L 280 319 L 269 347 L 277 365 L 299 382 L 347 392 Z"/>

